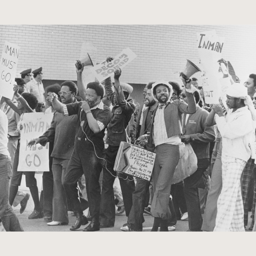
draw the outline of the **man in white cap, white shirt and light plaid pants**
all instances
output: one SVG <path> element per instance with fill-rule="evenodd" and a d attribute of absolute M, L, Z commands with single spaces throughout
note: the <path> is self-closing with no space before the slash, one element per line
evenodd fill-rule
<path fill-rule="evenodd" d="M 227 116 L 220 105 L 213 107 L 222 136 L 222 190 L 214 231 L 245 231 L 241 174 L 251 156 L 253 129 L 246 87 L 235 83 L 227 89 Z"/>

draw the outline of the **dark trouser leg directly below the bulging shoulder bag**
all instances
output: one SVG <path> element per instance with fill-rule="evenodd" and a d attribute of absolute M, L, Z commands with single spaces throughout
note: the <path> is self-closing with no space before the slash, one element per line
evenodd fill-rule
<path fill-rule="evenodd" d="M 177 219 L 181 219 L 181 212 L 187 213 L 187 204 L 186 199 L 184 195 L 184 182 L 181 181 L 176 184 L 171 185 L 171 195 L 172 195 L 172 202 L 175 209 L 175 214 L 177 216 Z M 181 210 L 181 212 L 180 212 Z"/>

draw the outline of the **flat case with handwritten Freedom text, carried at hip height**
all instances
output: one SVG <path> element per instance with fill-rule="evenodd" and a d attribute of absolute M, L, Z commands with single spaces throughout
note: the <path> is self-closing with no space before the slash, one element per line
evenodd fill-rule
<path fill-rule="evenodd" d="M 150 181 L 155 158 L 155 153 L 122 141 L 114 170 Z"/>

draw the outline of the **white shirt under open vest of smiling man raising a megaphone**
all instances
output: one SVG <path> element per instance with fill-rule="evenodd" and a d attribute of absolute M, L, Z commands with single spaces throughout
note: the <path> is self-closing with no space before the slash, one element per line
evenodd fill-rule
<path fill-rule="evenodd" d="M 155 147 L 161 144 L 181 145 L 180 135 L 168 138 L 164 121 L 164 108 L 158 108 L 154 119 L 154 142 Z"/>

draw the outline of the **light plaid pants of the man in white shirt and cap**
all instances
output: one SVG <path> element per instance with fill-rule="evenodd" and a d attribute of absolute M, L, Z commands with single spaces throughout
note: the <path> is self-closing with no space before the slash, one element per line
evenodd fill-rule
<path fill-rule="evenodd" d="M 222 155 L 222 190 L 213 231 L 245 231 L 241 174 L 246 161 Z"/>

